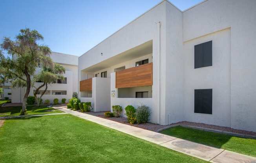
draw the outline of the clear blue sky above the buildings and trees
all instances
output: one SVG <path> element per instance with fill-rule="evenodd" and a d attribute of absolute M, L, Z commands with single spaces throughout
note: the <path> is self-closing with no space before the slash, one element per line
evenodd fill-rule
<path fill-rule="evenodd" d="M 161 0 L 0 0 L 0 43 L 36 29 L 52 51 L 80 56 Z M 170 0 L 185 10 L 201 0 Z"/>

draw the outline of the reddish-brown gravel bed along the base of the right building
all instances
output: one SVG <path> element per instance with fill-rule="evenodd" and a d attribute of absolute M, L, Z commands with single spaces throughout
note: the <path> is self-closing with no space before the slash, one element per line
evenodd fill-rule
<path fill-rule="evenodd" d="M 106 118 L 103 115 L 99 115 L 99 117 Z M 117 121 L 117 122 L 124 123 L 127 125 L 131 125 L 130 123 L 128 123 L 127 118 L 124 118 L 124 117 L 119 117 L 119 118 L 111 117 L 111 118 L 106 118 L 106 119 L 112 120 L 112 121 Z M 256 136 L 256 132 L 252 132 L 252 131 L 238 130 L 238 129 L 232 129 L 230 127 L 221 127 L 221 126 L 216 126 L 216 125 L 208 125 L 205 123 L 195 123 L 195 122 L 188 122 L 188 121 L 181 121 L 178 123 L 172 123 L 170 125 L 158 125 L 155 123 L 144 123 L 144 124 L 134 124 L 131 126 L 140 127 L 142 129 L 147 129 L 147 130 L 157 132 L 157 130 L 159 130 L 159 129 L 163 129 L 165 127 L 172 126 L 172 125 L 187 125 L 187 126 L 194 126 L 194 127 L 203 127 L 203 128 L 207 128 L 207 129 L 222 130 L 222 131 L 234 132 L 234 133 L 238 133 L 238 134 L 246 134 L 246 135 Z"/>

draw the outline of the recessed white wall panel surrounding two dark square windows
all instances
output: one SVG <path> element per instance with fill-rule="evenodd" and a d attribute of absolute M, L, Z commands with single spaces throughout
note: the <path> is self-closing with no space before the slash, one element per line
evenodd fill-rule
<path fill-rule="evenodd" d="M 194 45 L 212 40 L 212 66 L 194 69 Z M 230 127 L 230 28 L 184 43 L 186 121 Z M 212 89 L 212 114 L 194 113 L 194 89 Z"/>

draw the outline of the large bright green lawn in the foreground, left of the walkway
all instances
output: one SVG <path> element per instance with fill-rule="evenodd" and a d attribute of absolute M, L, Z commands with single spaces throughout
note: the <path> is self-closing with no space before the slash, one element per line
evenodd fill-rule
<path fill-rule="evenodd" d="M 70 114 L 6 120 L 1 163 L 206 163 Z"/>

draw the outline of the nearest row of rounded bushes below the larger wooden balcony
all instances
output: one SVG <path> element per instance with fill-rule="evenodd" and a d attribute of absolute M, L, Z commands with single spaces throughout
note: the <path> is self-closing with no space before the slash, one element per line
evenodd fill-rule
<path fill-rule="evenodd" d="M 128 122 L 130 124 L 134 123 L 147 123 L 150 119 L 150 109 L 146 105 L 141 105 L 135 109 L 132 105 L 128 105 L 124 108 L 127 116 Z M 113 105 L 112 106 L 113 112 L 105 112 L 105 117 L 120 117 L 121 112 L 123 111 L 122 107 L 120 105 Z"/>

